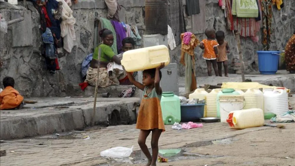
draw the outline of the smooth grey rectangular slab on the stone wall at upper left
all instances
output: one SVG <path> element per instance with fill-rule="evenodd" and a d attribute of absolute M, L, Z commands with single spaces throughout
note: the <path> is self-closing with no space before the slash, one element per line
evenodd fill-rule
<path fill-rule="evenodd" d="M 31 11 L 13 11 L 11 13 L 11 19 L 17 19 L 20 17 L 24 17 L 24 20 L 12 24 L 12 47 L 25 47 L 33 45 Z"/>

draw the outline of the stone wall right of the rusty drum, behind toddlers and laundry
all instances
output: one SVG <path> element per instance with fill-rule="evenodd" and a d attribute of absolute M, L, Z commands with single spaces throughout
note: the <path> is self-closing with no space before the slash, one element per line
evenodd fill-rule
<path fill-rule="evenodd" d="M 185 4 L 185 1 L 183 1 Z M 184 6 L 185 8 L 185 6 Z M 200 22 L 192 22 L 191 17 L 185 17 L 187 23 L 187 30 L 191 30 L 193 24 L 202 24 Z M 273 34 L 271 35 L 270 50 L 284 50 L 285 45 L 293 31 L 295 30 L 295 3 L 294 0 L 284 0 L 284 7 L 278 10 L 273 6 Z M 234 35 L 231 31 L 226 29 L 226 18 L 224 12 L 218 6 L 217 0 L 206 0 L 206 27 L 214 27 L 216 30 L 223 30 L 226 33 L 225 40 L 229 42 L 231 53 L 229 53 L 229 63 L 233 61 L 233 55 L 237 55 L 236 42 Z M 196 34 L 199 40 L 206 38 L 204 33 Z M 256 51 L 262 51 L 262 34 L 260 32 L 258 43 L 254 43 L 250 38 L 241 37 L 241 46 L 243 53 L 243 61 L 245 62 L 245 69 L 247 71 L 258 71 L 258 57 Z M 172 62 L 179 62 L 180 59 L 180 46 L 177 50 L 173 50 Z M 197 76 L 207 76 L 206 61 L 202 58 L 202 50 L 195 49 L 196 71 Z M 180 76 L 184 76 L 184 67 L 180 64 L 178 66 Z M 214 71 L 212 70 L 212 73 Z M 234 73 L 234 66 L 229 67 L 229 72 Z"/>

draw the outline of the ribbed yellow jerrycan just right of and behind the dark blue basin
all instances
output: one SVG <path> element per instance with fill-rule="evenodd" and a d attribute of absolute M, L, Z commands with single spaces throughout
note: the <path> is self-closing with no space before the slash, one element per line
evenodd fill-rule
<path fill-rule="evenodd" d="M 217 117 L 216 98 L 221 90 L 221 88 L 212 89 L 212 91 L 206 95 L 206 117 Z"/>

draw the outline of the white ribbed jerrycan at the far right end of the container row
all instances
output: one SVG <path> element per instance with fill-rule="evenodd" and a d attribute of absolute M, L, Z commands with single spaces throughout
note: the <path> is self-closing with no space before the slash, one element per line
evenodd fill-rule
<path fill-rule="evenodd" d="M 282 115 L 289 111 L 288 94 L 283 89 L 265 89 L 264 112 Z"/>

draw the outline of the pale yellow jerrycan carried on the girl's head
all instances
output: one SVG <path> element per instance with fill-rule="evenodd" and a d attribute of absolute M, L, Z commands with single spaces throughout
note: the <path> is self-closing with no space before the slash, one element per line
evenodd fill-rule
<path fill-rule="evenodd" d="M 153 69 L 161 62 L 165 62 L 165 66 L 170 63 L 169 50 L 166 45 L 129 50 L 123 53 L 121 60 L 122 66 L 128 72 Z"/>

